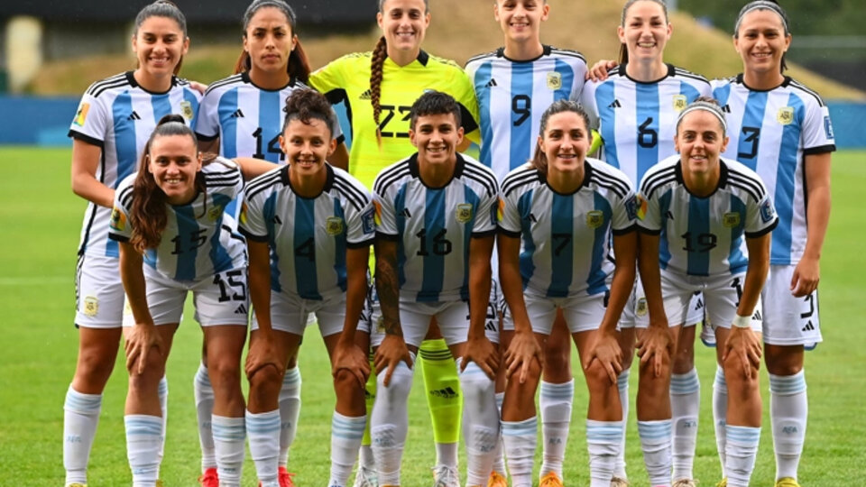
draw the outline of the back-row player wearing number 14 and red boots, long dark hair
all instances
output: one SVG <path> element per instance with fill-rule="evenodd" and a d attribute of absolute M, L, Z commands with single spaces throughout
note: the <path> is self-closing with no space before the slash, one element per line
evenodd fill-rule
<path fill-rule="evenodd" d="M 296 89 L 304 89 L 309 78 L 309 63 L 295 34 L 294 11 L 282 0 L 254 0 L 244 13 L 244 51 L 235 66 L 235 75 L 208 87 L 198 110 L 196 134 L 205 152 L 219 152 L 226 158 L 254 157 L 285 162 L 280 146 L 283 108 L 286 98 Z M 339 125 L 331 127 L 339 142 L 331 161 L 345 167 L 345 145 Z M 339 157 L 342 155 L 342 157 Z M 228 211 L 236 215 L 235 204 Z M 280 482 L 291 484 L 286 470 L 289 446 L 298 428 L 300 410 L 300 371 L 297 357 L 290 355 L 288 370 L 280 393 Z M 217 464 L 214 459 L 210 414 L 213 390 L 207 378 L 206 361 L 198 367 L 193 381 L 198 436 L 201 441 L 199 482 L 217 487 Z"/>

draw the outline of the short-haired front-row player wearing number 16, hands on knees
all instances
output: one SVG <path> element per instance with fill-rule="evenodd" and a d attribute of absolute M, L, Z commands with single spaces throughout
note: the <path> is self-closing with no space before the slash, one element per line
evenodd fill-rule
<path fill-rule="evenodd" d="M 418 152 L 376 177 L 375 284 L 385 336 L 370 431 L 380 485 L 400 485 L 411 366 L 435 317 L 457 357 L 464 396 L 466 485 L 486 485 L 499 436 L 493 378 L 499 354 L 484 335 L 499 196 L 493 171 L 460 155 L 460 108 L 428 92 L 410 112 Z M 437 485 L 459 485 L 455 476 Z"/>

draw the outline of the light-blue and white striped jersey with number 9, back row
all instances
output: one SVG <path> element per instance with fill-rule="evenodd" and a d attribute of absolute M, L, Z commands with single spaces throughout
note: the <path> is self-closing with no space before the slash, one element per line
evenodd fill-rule
<path fill-rule="evenodd" d="M 550 46 L 534 60 L 510 60 L 500 48 L 470 59 L 466 73 L 478 98 L 481 161 L 502 181 L 532 157 L 548 106 L 580 95 L 586 60 Z"/>

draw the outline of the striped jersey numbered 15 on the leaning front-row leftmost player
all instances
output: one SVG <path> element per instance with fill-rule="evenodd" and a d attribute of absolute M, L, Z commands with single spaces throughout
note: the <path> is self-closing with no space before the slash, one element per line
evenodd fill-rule
<path fill-rule="evenodd" d="M 246 267 L 244 238 L 232 231 L 234 219 L 226 205 L 244 188 L 234 161 L 217 158 L 201 170 L 206 191 L 187 205 L 165 205 L 167 222 L 159 247 L 144 253 L 144 263 L 173 280 L 197 281 L 214 274 Z M 127 242 L 133 236 L 129 218 L 133 207 L 135 174 L 124 179 L 115 193 L 109 237 Z"/>

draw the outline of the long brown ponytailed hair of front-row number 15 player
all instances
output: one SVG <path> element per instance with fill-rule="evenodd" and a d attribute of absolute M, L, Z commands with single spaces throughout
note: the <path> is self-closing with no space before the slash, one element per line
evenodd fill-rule
<path fill-rule="evenodd" d="M 147 166 L 153 140 L 157 137 L 169 135 L 188 136 L 192 139 L 193 144 L 195 144 L 196 154 L 198 155 L 198 139 L 196 139 L 196 134 L 189 128 L 184 118 L 174 114 L 163 116 L 144 145 L 142 159 L 138 164 L 138 174 L 135 176 L 133 184 L 133 203 L 129 212 L 129 223 L 133 227 L 133 236 L 130 238 L 129 243 L 139 253 L 159 246 L 162 240 L 162 231 L 165 230 L 165 225 L 168 222 L 168 216 L 165 212 L 165 193 L 156 184 L 156 179 L 153 179 L 153 174 L 148 170 Z M 202 165 L 213 161 L 215 158 L 215 154 L 205 154 Z M 201 193 L 204 193 L 207 189 L 205 178 L 201 172 L 198 172 L 196 175 L 195 186 L 196 190 Z M 207 198 L 205 200 L 206 208 L 204 211 L 207 211 Z"/>

